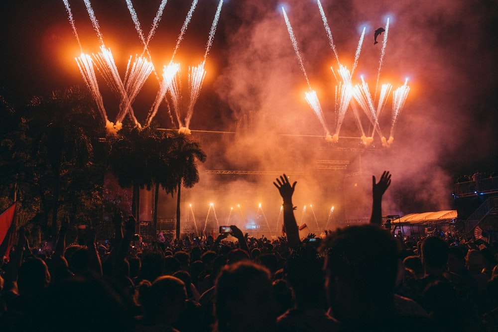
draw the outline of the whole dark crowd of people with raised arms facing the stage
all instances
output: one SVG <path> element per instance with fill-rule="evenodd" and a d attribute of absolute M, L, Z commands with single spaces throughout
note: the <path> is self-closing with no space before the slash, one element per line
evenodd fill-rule
<path fill-rule="evenodd" d="M 21 227 L 0 270 L 0 331 L 498 331 L 494 244 L 403 242 L 382 227 L 391 175 L 372 180 L 370 223 L 324 238 L 299 237 L 285 174 L 276 240 L 231 226 L 137 251 L 136 221 L 116 212 L 109 246 L 91 226 L 66 245 L 64 218 L 55 247 L 32 250 Z"/>

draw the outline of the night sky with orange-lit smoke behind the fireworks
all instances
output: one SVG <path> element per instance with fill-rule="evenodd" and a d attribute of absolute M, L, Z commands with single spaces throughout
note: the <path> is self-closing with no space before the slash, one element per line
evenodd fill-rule
<path fill-rule="evenodd" d="M 98 52 L 99 42 L 83 0 L 69 3 L 84 52 Z M 145 34 L 159 3 L 133 3 Z M 156 68 L 169 61 L 190 4 L 187 0 L 166 4 L 150 42 Z M 249 145 L 268 163 L 281 162 L 272 160 L 271 150 L 265 148 L 269 133 L 324 134 L 304 101 L 306 81 L 281 4 L 325 120 L 334 131 L 336 82 L 330 66 L 336 62 L 315 0 L 225 1 L 190 124 L 191 129 L 235 131 L 237 121 L 253 111 L 258 114 L 253 130 L 264 139 Z M 128 57 L 142 50 L 125 1 L 95 0 L 92 5 L 106 46 L 112 48 L 123 75 Z M 182 68 L 197 66 L 202 60 L 217 5 L 218 0 L 199 0 L 175 58 Z M 411 91 L 396 126 L 395 153 L 383 160 L 364 161 L 373 171 L 389 168 L 407 187 L 451 193 L 449 184 L 459 175 L 498 170 L 498 1 L 322 0 L 322 5 L 339 59 L 348 68 L 361 29 L 367 27 L 354 82 L 364 75 L 373 90 L 381 49 L 381 43 L 373 45 L 373 30 L 385 26 L 387 16 L 389 34 L 380 80 L 390 82 L 394 90 L 409 78 Z M 62 0 L 1 1 L 0 22 L 0 84 L 7 99 L 19 102 L 71 85 L 85 88 L 74 61 L 80 53 L 78 43 Z M 137 97 L 134 107 L 140 121 L 157 87 L 151 76 Z M 105 102 L 112 100 L 103 82 L 101 90 Z M 113 114 L 111 109 L 109 114 Z M 390 109 L 388 102 L 380 116 L 385 132 Z M 173 127 L 164 108 L 156 119 L 164 127 Z M 345 118 L 341 135 L 359 136 L 351 114 Z M 440 206 L 446 207 L 447 202 Z"/>

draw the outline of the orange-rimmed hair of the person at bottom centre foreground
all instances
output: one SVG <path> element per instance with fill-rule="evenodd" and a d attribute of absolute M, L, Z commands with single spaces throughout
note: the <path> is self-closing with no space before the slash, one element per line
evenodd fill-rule
<path fill-rule="evenodd" d="M 227 265 L 221 271 L 215 284 L 215 316 L 218 331 L 228 331 L 228 322 L 233 319 L 231 301 L 243 301 L 251 291 L 251 281 L 268 282 L 271 287 L 270 272 L 263 266 L 244 260 Z"/>

